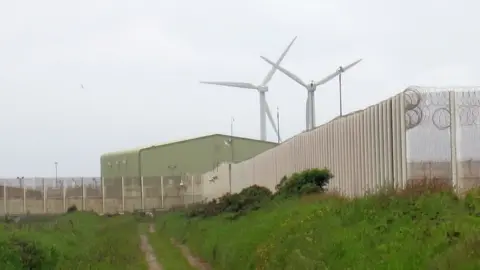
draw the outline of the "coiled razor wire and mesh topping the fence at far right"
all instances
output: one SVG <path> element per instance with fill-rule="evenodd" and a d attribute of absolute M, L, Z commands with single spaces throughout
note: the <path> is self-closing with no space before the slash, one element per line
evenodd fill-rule
<path fill-rule="evenodd" d="M 431 122 L 438 130 L 450 128 L 449 91 L 454 90 L 457 123 L 460 126 L 480 126 L 480 88 L 463 88 L 463 91 L 449 88 L 438 90 L 442 89 L 409 87 L 404 91 L 407 130 L 426 121 Z"/>

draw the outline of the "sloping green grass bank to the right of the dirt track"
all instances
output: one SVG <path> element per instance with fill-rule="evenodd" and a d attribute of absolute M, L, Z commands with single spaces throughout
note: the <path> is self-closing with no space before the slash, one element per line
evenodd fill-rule
<path fill-rule="evenodd" d="M 414 193 L 274 200 L 234 221 L 170 213 L 157 228 L 215 269 L 480 269 L 478 196 Z"/>

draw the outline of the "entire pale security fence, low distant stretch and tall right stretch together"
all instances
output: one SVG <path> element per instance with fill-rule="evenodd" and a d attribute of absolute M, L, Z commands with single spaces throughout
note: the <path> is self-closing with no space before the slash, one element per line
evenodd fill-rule
<path fill-rule="evenodd" d="M 348 197 L 417 179 L 449 182 L 459 193 L 479 185 L 480 88 L 409 87 L 203 175 L 6 179 L 0 214 L 60 213 L 73 204 L 97 212 L 170 208 L 254 184 L 274 190 L 283 176 L 324 167 L 334 175 L 328 189 Z"/>

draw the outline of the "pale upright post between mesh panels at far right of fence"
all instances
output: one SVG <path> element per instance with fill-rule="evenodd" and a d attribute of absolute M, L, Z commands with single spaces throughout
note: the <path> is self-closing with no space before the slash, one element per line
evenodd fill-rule
<path fill-rule="evenodd" d="M 457 193 L 458 186 L 458 164 L 457 164 L 457 102 L 455 100 L 455 91 L 449 92 L 449 111 L 450 111 L 450 164 L 452 171 L 452 185 Z"/>

